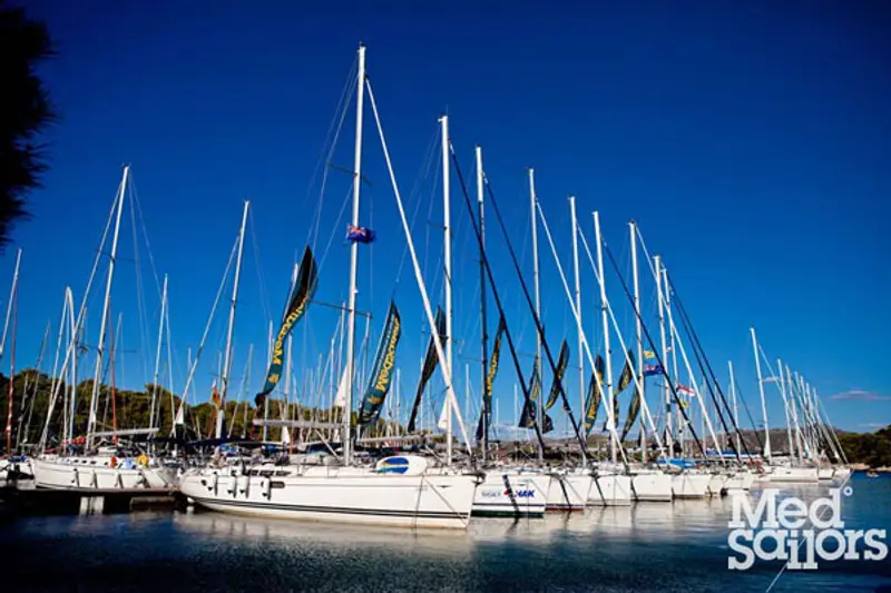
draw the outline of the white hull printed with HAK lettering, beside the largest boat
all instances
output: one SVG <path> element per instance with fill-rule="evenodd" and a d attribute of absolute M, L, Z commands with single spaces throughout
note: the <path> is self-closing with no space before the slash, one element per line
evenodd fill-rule
<path fill-rule="evenodd" d="M 474 516 L 545 515 L 550 476 L 517 471 L 487 471 L 473 497 Z"/>

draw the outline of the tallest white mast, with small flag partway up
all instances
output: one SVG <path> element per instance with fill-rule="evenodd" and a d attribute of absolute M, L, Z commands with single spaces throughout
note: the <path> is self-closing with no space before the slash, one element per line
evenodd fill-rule
<path fill-rule="evenodd" d="M 353 226 L 359 226 L 359 191 L 362 184 L 362 108 L 365 99 L 365 46 L 359 46 L 359 71 L 355 100 L 355 152 L 353 159 Z M 350 294 L 346 305 L 346 402 L 343 406 L 343 461 L 352 461 L 353 368 L 355 357 L 355 295 L 359 273 L 359 243 L 350 246 Z"/>

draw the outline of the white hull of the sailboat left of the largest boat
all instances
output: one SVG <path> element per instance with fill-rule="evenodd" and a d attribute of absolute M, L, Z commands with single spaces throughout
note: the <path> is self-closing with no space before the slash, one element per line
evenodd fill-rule
<path fill-rule="evenodd" d="M 111 467 L 110 457 L 36 458 L 35 486 L 68 491 L 168 488 L 169 481 L 156 468 Z"/>

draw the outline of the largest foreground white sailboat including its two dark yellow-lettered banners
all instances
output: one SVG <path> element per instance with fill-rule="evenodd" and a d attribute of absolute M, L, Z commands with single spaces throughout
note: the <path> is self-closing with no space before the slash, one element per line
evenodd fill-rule
<path fill-rule="evenodd" d="M 241 467 L 208 466 L 184 474 L 180 492 L 189 502 L 213 511 L 258 515 L 272 518 L 295 518 L 360 523 L 405 527 L 466 528 L 470 520 L 471 505 L 480 476 L 466 474 L 451 467 L 434 467 L 427 458 L 415 455 L 396 455 L 380 459 L 373 466 L 353 463 L 352 399 L 354 376 L 354 342 L 356 314 L 356 271 L 359 244 L 370 236 L 360 226 L 359 198 L 362 162 L 362 116 L 364 92 L 368 88 L 375 121 L 381 135 L 384 157 L 390 167 L 386 145 L 380 127 L 380 119 L 365 76 L 365 48 L 359 47 L 359 68 L 356 83 L 356 137 L 353 177 L 353 216 L 349 235 L 353 239 L 350 254 L 349 322 L 346 335 L 346 375 L 342 427 L 342 463 L 325 465 L 275 465 L 262 464 Z M 409 240 L 409 249 L 415 268 L 428 320 L 433 326 L 427 291 L 418 268 L 413 243 L 404 218 L 401 198 L 395 179 L 390 169 L 396 202 L 402 215 L 403 228 Z M 278 382 L 282 370 L 282 344 L 294 324 L 304 315 L 316 285 L 316 265 L 307 247 L 298 269 L 297 283 L 288 298 L 288 308 L 282 322 L 275 343 L 266 384 L 257 395 L 257 409 L 263 407 L 266 394 Z M 391 304 L 380 346 L 378 364 L 363 402 L 360 418 L 379 412 L 383 397 L 392 379 L 395 347 L 401 332 L 395 306 Z M 442 343 L 433 332 L 437 355 L 444 358 Z M 448 394 L 454 403 L 451 389 L 451 374 L 446 365 L 444 378 Z M 366 408 L 365 406 L 370 406 Z M 449 434 L 451 441 L 451 434 Z M 329 457 L 330 461 L 333 457 Z"/>

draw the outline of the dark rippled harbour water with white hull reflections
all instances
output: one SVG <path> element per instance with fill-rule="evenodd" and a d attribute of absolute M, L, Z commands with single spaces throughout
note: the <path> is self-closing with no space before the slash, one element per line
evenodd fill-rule
<path fill-rule="evenodd" d="M 851 485 L 845 527 L 891 527 L 891 477 Z M 828 488 L 784 492 L 812 500 Z M 765 591 L 780 562 L 727 570 L 731 508 L 724 498 L 474 518 L 467 533 L 208 512 L 37 517 L 0 528 L 0 572 L 16 592 Z M 891 561 L 821 561 L 786 571 L 773 591 L 891 592 Z"/>

